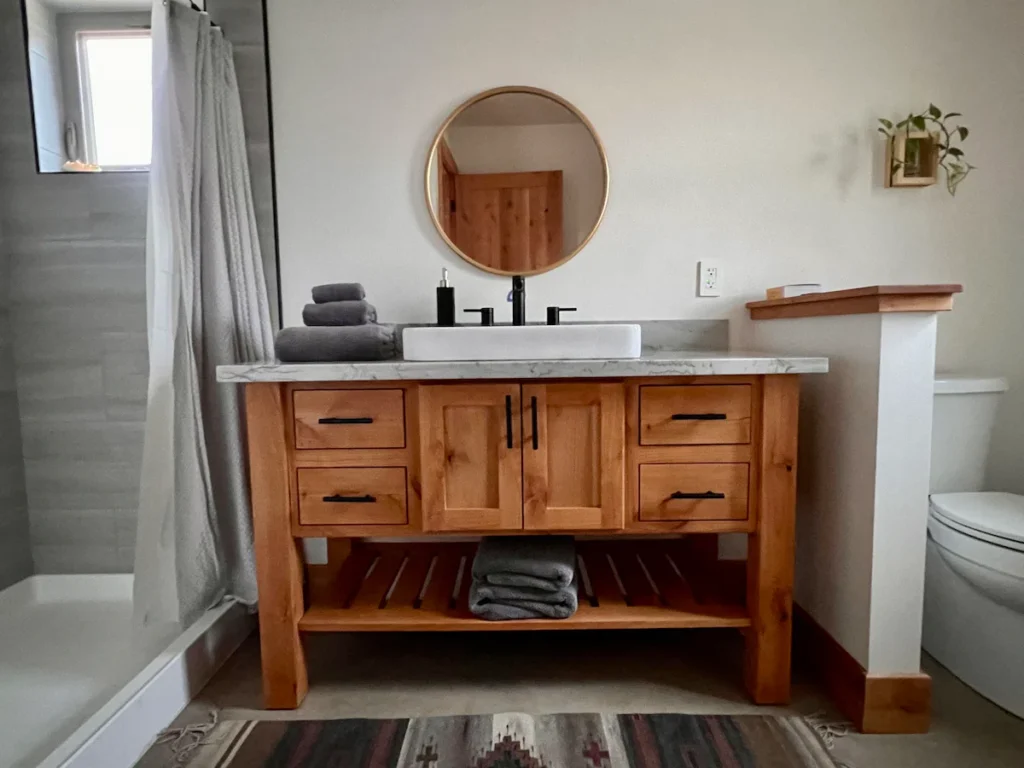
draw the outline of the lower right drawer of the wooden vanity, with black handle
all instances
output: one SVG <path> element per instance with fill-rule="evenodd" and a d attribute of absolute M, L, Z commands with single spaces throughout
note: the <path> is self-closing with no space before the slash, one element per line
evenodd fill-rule
<path fill-rule="evenodd" d="M 748 464 L 641 464 L 640 519 L 745 520 Z"/>

